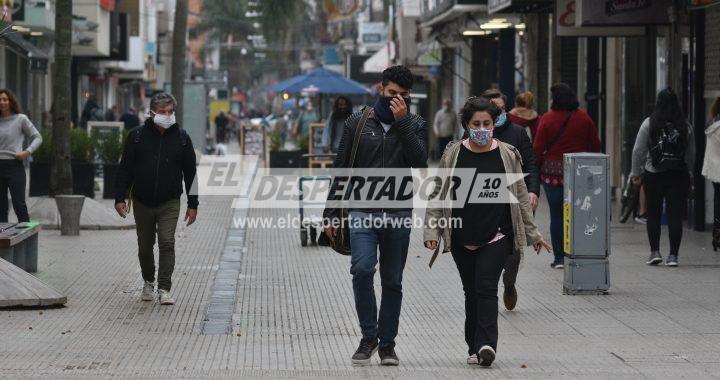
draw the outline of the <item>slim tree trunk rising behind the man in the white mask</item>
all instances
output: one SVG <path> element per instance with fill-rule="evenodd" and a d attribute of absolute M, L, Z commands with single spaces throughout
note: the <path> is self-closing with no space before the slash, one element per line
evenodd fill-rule
<path fill-rule="evenodd" d="M 175 3 L 175 22 L 173 27 L 172 52 L 172 92 L 177 100 L 175 114 L 180 123 L 183 121 L 183 98 L 185 89 L 185 64 L 187 56 L 187 0 L 177 0 Z M 180 124 L 182 125 L 182 124 Z"/>

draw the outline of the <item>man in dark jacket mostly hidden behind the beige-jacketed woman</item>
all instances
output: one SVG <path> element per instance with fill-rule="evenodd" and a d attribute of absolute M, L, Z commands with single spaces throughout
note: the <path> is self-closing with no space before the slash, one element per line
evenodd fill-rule
<path fill-rule="evenodd" d="M 510 122 L 505 111 L 506 96 L 496 89 L 490 89 L 482 93 L 483 98 L 488 99 L 500 107 L 502 113 L 495 123 L 493 137 L 510 144 L 520 151 L 523 160 L 523 173 L 525 177 L 525 185 L 528 188 L 528 196 L 532 204 L 533 211 L 538 205 L 538 194 L 540 194 L 540 173 L 535 164 L 535 152 L 532 149 L 532 142 L 525 128 Z M 517 304 L 517 289 L 515 282 L 517 281 L 517 273 L 520 267 L 520 256 L 511 255 L 505 262 L 505 271 L 503 272 L 503 284 L 505 290 L 503 292 L 503 302 L 505 308 L 513 310 Z"/>

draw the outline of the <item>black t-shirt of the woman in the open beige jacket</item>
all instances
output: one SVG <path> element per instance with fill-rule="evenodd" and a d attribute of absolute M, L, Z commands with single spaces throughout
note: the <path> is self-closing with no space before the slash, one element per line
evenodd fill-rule
<path fill-rule="evenodd" d="M 505 165 L 500 156 L 499 148 L 476 153 L 462 145 L 455 167 L 475 168 L 476 173 L 481 174 L 505 173 Z M 479 183 L 480 181 L 482 179 L 475 178 L 472 188 L 483 186 L 482 183 Z M 494 191 L 507 192 L 509 190 L 501 186 Z M 507 198 L 504 197 L 503 199 Z M 482 246 L 495 237 L 498 229 L 505 236 L 512 235 L 512 219 L 508 203 L 468 203 L 466 200 L 465 207 L 454 208 L 452 216 L 461 220 L 460 228 L 453 225 L 453 244 Z"/>

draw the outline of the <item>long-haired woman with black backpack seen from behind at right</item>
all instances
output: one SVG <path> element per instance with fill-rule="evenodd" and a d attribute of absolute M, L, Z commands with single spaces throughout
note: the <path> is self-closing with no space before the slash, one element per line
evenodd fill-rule
<path fill-rule="evenodd" d="M 632 152 L 630 178 L 635 185 L 642 182 L 645 186 L 650 241 L 648 265 L 663 262 L 660 254 L 663 204 L 670 235 L 670 254 L 665 265 L 678 265 L 682 221 L 694 163 L 695 138 L 692 126 L 683 115 L 675 92 L 666 88 L 658 93 L 652 115 L 640 125 Z"/>

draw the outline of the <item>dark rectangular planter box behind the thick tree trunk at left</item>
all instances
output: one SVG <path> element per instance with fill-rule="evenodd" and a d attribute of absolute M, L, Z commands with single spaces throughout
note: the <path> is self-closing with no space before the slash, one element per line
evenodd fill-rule
<path fill-rule="evenodd" d="M 73 193 L 95 198 L 95 165 L 87 162 L 73 162 Z M 50 195 L 50 163 L 30 163 L 30 196 Z"/>

